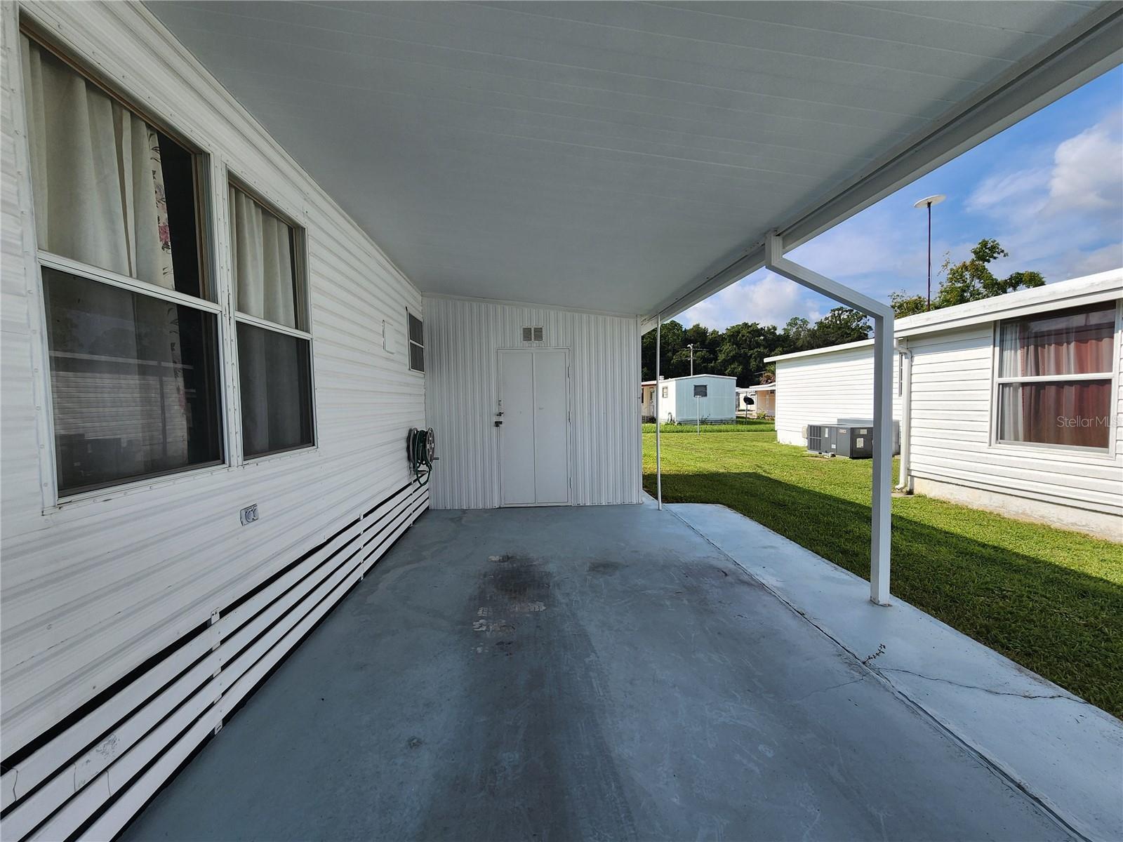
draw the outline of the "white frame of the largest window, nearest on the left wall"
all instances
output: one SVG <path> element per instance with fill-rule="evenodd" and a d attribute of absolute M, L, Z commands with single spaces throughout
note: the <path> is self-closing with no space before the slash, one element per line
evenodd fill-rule
<path fill-rule="evenodd" d="M 16 152 L 17 164 L 22 171 L 21 186 L 26 189 L 26 194 L 28 196 L 28 222 L 24 226 L 24 242 L 26 244 L 27 251 L 29 253 L 29 266 L 34 271 L 34 294 L 38 300 L 38 318 L 36 321 L 39 341 L 33 346 L 33 359 L 38 363 L 36 366 L 39 374 L 37 386 L 42 390 L 42 403 L 40 406 L 37 408 L 38 411 L 36 414 L 37 425 L 42 436 L 40 440 L 44 443 L 40 448 L 39 469 L 40 482 L 43 485 L 43 513 L 49 514 L 52 512 L 62 511 L 64 506 L 70 507 L 73 504 L 86 501 L 119 497 L 140 488 L 153 488 L 156 486 L 179 483 L 189 477 L 225 472 L 229 469 L 232 459 L 230 437 L 227 429 L 227 418 L 229 415 L 229 393 L 225 378 L 228 361 L 227 346 L 229 337 L 223 306 L 220 303 L 223 300 L 225 290 L 220 278 L 220 273 L 216 271 L 217 250 L 214 248 L 216 244 L 211 234 L 214 223 L 214 196 L 212 191 L 214 150 L 209 148 L 204 143 L 201 143 L 200 139 L 194 137 L 191 132 L 181 130 L 175 126 L 173 120 L 168 120 L 159 115 L 153 117 L 152 111 L 148 109 L 137 107 L 135 103 L 140 101 L 143 99 L 141 97 L 130 95 L 129 91 L 122 90 L 122 88 L 116 84 L 116 82 L 111 84 L 107 83 L 101 74 L 90 70 L 84 62 L 74 57 L 81 56 L 81 51 L 74 48 L 72 45 L 56 42 L 54 38 L 43 37 L 34 18 L 25 17 L 24 10 L 20 12 L 19 24 L 17 36 L 26 35 L 30 40 L 37 43 L 43 49 L 48 51 L 58 60 L 70 65 L 75 73 L 81 75 L 88 82 L 100 88 L 107 95 L 116 99 L 125 108 L 129 109 L 133 113 L 137 115 L 146 122 L 171 137 L 175 140 L 175 143 L 180 144 L 192 154 L 194 157 L 193 163 L 195 175 L 194 187 L 198 217 L 195 244 L 199 249 L 200 291 L 203 295 L 210 296 L 195 298 L 176 290 L 168 290 L 147 281 L 141 281 L 128 275 L 120 275 L 99 266 L 93 266 L 64 255 L 57 255 L 46 249 L 38 248 L 38 234 L 36 229 L 33 198 L 34 190 L 31 189 L 31 174 L 28 165 L 28 162 L 30 161 L 30 136 L 27 131 L 28 123 L 25 111 L 25 80 L 22 79 L 21 72 L 22 62 L 19 57 L 17 57 L 15 62 L 17 71 L 16 74 L 13 74 L 15 77 L 12 79 L 12 117 L 17 125 L 24 127 L 24 130 L 20 132 L 24 136 L 22 143 L 17 144 Z M 18 37 L 16 39 L 16 49 L 19 52 L 19 45 L 21 42 Z M 211 313 L 216 317 L 214 341 L 217 347 L 214 348 L 214 360 L 218 383 L 214 384 L 216 388 L 213 397 L 216 402 L 216 411 L 218 413 L 218 434 L 221 445 L 221 456 L 218 460 L 184 467 L 179 470 L 161 472 L 143 477 L 126 478 L 120 482 L 106 484 L 104 486 L 98 488 L 89 488 L 69 494 L 62 493 L 58 484 L 58 452 L 57 442 L 55 441 L 55 410 L 53 385 L 51 379 L 51 348 L 48 339 L 49 313 L 46 308 L 45 284 L 43 281 L 44 268 L 55 269 L 88 281 L 106 284 L 107 286 L 116 286 L 128 292 L 167 301 L 170 303 L 190 306 L 194 310 Z"/>

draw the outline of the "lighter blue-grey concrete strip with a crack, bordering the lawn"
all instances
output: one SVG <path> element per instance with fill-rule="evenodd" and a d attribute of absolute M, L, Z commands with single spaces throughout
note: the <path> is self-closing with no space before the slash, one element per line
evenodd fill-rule
<path fill-rule="evenodd" d="M 1123 840 L 1123 722 L 737 512 L 667 507 L 1069 827 Z"/>

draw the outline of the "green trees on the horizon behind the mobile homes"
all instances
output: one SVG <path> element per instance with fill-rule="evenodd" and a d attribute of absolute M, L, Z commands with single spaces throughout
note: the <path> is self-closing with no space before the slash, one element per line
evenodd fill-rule
<path fill-rule="evenodd" d="M 932 298 L 932 310 L 988 299 L 1014 290 L 1041 286 L 1046 280 L 1038 272 L 1015 272 L 998 278 L 987 264 L 1008 253 L 997 240 L 980 240 L 971 249 L 968 260 L 952 264 L 946 256 L 941 274 L 944 276 Z M 897 318 L 922 313 L 929 309 L 924 295 L 905 292 L 889 293 L 889 304 Z M 684 327 L 677 321 L 663 324 L 663 354 L 659 360 L 664 377 L 685 377 L 691 373 L 691 347 L 694 346 L 695 374 L 722 374 L 737 377 L 738 386 L 755 386 L 774 378 L 775 364 L 767 357 L 801 350 L 827 348 L 843 342 L 868 339 L 873 330 L 869 319 L 856 310 L 837 306 L 812 324 L 807 319 L 788 319 L 783 329 L 774 324 L 741 322 L 724 331 L 694 324 Z M 643 335 L 642 373 L 645 381 L 655 379 L 655 331 Z"/>

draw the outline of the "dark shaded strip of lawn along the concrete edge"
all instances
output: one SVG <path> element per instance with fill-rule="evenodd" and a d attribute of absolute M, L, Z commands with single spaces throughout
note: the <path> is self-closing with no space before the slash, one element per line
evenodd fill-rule
<path fill-rule="evenodd" d="M 663 498 L 727 505 L 869 578 L 868 505 L 749 472 L 665 474 Z M 1123 587 L 901 515 L 892 558 L 893 594 L 1123 717 Z"/>

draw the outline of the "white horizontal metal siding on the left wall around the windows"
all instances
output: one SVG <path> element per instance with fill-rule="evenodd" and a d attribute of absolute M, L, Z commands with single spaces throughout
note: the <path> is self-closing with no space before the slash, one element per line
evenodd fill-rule
<path fill-rule="evenodd" d="M 154 653 L 409 482 L 404 437 L 424 424 L 424 378 L 382 349 L 404 345 L 420 293 L 143 7 L 28 7 L 76 57 L 308 229 L 318 448 L 154 481 L 61 507 L 40 442 L 46 378 L 18 80 L 15 4 L 2 11 L 3 754 L 19 749 Z M 226 210 L 213 209 L 220 280 Z M 21 271 L 22 269 L 22 271 Z M 37 356 L 38 355 L 38 356 Z M 38 370 L 36 370 L 38 369 Z M 229 379 L 230 369 L 226 369 Z M 228 414 L 228 425 L 236 415 Z M 46 446 L 42 446 L 45 443 Z M 261 521 L 240 527 L 257 503 Z"/>

